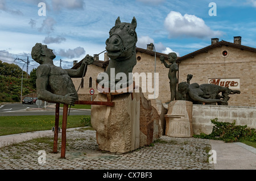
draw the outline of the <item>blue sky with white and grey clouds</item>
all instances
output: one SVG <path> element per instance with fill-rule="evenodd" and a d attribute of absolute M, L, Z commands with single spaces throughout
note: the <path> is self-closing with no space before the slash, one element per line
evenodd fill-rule
<path fill-rule="evenodd" d="M 154 43 L 160 53 L 184 56 L 212 38 L 234 36 L 256 48 L 256 0 L 0 0 L 0 60 L 23 66 L 28 56 L 30 73 L 38 67 L 31 49 L 42 43 L 53 49 L 56 66 L 61 59 L 69 69 L 73 60 L 105 50 L 118 16 L 137 19 L 137 47 Z"/>

